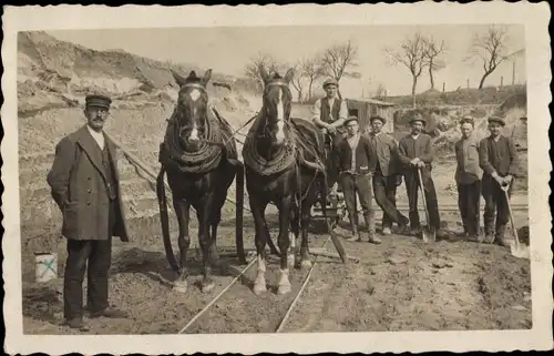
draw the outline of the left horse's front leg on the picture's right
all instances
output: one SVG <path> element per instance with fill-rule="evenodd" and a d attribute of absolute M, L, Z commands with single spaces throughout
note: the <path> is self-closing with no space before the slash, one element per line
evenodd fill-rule
<path fill-rule="evenodd" d="M 202 257 L 203 257 L 203 274 L 204 277 L 202 279 L 202 292 L 208 293 L 215 287 L 214 279 L 212 278 L 212 246 L 213 241 L 209 236 L 209 217 L 211 217 L 211 208 L 214 207 L 213 204 L 214 194 L 206 194 L 199 204 L 199 208 L 196 210 L 196 214 L 198 216 L 198 240 L 202 247 Z"/>

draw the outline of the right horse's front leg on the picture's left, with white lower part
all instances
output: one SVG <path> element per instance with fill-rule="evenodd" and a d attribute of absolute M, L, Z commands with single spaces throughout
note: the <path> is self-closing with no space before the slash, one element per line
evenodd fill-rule
<path fill-rule="evenodd" d="M 266 287 L 266 258 L 265 258 L 265 248 L 266 248 L 266 240 L 269 234 L 266 227 L 266 217 L 265 211 L 267 203 L 259 202 L 253 195 L 248 197 L 250 203 L 250 210 L 254 217 L 254 226 L 255 226 L 255 244 L 256 244 L 256 254 L 258 262 L 258 272 L 256 275 L 256 281 L 254 282 L 254 294 L 259 295 L 261 293 L 267 292 Z"/>

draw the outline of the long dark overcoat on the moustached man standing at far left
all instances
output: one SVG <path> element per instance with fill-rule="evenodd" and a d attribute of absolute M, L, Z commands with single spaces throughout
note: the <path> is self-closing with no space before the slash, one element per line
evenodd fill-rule
<path fill-rule="evenodd" d="M 112 236 L 127 242 L 125 213 L 122 208 L 115 144 L 104 134 L 117 186 L 115 224 Z M 86 125 L 63 138 L 48 174 L 52 197 L 63 215 L 62 235 L 70 240 L 107 240 L 107 179 L 101 151 Z"/>

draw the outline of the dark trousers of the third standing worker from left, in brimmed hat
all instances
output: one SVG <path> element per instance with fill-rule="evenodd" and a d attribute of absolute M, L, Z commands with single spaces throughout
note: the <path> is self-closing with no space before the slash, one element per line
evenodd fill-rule
<path fill-rule="evenodd" d="M 437 192 L 434 190 L 434 182 L 431 176 L 429 167 L 421 169 L 421 180 L 423 181 L 423 191 L 425 193 L 427 208 L 429 210 L 428 225 L 440 230 L 441 218 L 439 215 L 439 202 L 437 201 Z M 418 211 L 418 195 L 419 195 L 419 177 L 418 169 L 409 167 L 404 173 L 406 191 L 408 193 L 408 204 L 410 205 L 410 227 L 412 230 L 420 228 L 421 223 L 419 220 Z"/>

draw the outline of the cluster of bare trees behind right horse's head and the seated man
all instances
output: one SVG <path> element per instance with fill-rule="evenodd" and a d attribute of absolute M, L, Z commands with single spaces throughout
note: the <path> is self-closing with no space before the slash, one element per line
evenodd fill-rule
<path fill-rule="evenodd" d="M 334 78 L 340 81 L 342 78 L 360 78 L 356 71 L 358 67 L 358 47 L 350 41 L 334 44 L 314 57 L 307 57 L 295 63 L 279 62 L 267 53 L 258 53 L 252 58 L 245 67 L 245 75 L 257 80 L 260 83 L 260 65 L 264 65 L 269 73 L 284 72 L 287 68 L 295 69 L 293 87 L 298 92 L 298 101 L 311 100 L 314 95 L 314 84 L 322 78 Z"/>

